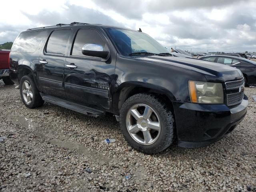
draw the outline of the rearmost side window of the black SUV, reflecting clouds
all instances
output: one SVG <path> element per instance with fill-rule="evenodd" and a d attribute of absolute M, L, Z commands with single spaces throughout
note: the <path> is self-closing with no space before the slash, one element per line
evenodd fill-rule
<path fill-rule="evenodd" d="M 12 46 L 12 52 L 34 53 L 47 36 L 47 31 L 21 33 Z"/>

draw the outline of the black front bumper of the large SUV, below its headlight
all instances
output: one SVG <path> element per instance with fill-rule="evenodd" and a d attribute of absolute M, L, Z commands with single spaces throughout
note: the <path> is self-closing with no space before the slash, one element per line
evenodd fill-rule
<path fill-rule="evenodd" d="M 230 133 L 243 120 L 248 98 L 234 108 L 224 104 L 173 102 L 178 146 L 196 148 L 209 145 Z"/>

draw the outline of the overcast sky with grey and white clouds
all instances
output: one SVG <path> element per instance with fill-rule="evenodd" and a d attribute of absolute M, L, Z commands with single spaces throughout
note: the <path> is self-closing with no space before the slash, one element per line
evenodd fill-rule
<path fill-rule="evenodd" d="M 166 48 L 256 52 L 256 0 L 5 0 L 0 44 L 28 28 L 71 22 L 141 28 Z"/>

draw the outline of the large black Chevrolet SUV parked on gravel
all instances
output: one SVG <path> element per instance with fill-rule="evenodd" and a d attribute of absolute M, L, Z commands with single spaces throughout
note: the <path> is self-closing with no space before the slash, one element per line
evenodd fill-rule
<path fill-rule="evenodd" d="M 176 137 L 181 147 L 220 140 L 248 105 L 240 70 L 175 57 L 141 30 L 100 24 L 22 32 L 10 76 L 28 108 L 46 101 L 91 116 L 110 112 L 145 153 L 166 149 Z"/>

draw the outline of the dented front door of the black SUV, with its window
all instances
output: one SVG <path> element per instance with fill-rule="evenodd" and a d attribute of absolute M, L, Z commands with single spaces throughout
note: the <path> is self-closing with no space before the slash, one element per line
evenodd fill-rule
<path fill-rule="evenodd" d="M 84 44 L 106 42 L 93 29 L 78 30 L 70 55 L 65 62 L 64 86 L 67 99 L 82 105 L 108 110 L 111 107 L 110 90 L 115 72 L 115 60 L 102 62 L 101 58 L 82 54 Z"/>

